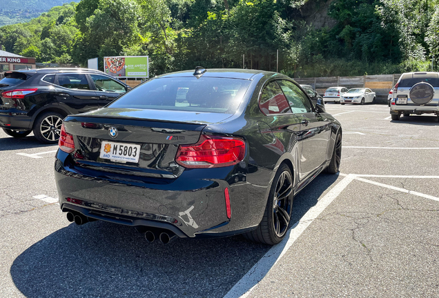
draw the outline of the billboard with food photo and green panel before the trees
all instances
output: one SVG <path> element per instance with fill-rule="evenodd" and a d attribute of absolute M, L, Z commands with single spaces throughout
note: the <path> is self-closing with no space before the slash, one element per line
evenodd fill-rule
<path fill-rule="evenodd" d="M 148 56 L 104 57 L 104 72 L 118 78 L 148 78 Z"/>

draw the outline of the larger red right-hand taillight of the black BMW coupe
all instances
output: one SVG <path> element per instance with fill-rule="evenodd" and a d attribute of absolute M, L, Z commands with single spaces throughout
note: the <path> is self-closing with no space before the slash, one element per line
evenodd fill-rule
<path fill-rule="evenodd" d="M 175 161 L 184 168 L 233 166 L 244 159 L 244 140 L 202 135 L 193 145 L 180 145 Z"/>

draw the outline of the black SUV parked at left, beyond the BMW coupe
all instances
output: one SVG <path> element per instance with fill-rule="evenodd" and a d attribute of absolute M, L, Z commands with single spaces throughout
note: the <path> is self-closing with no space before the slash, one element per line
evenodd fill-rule
<path fill-rule="evenodd" d="M 130 89 L 99 70 L 43 68 L 4 72 L 0 80 L 0 128 L 12 137 L 34 132 L 56 143 L 62 119 L 106 106 Z"/>

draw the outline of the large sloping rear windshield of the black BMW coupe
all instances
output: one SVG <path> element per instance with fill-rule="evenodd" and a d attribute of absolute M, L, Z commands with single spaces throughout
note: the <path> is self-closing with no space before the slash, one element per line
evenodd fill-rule
<path fill-rule="evenodd" d="M 108 108 L 234 113 L 250 85 L 243 79 L 158 78 L 134 88 Z"/>

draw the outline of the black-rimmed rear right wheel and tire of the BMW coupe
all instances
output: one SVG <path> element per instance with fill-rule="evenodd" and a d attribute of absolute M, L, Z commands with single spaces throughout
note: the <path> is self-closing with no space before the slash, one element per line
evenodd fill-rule
<path fill-rule="evenodd" d="M 244 233 L 244 237 L 253 242 L 269 245 L 282 241 L 290 224 L 293 191 L 293 175 L 290 168 L 282 163 L 271 184 L 262 221 L 256 230 Z"/>

